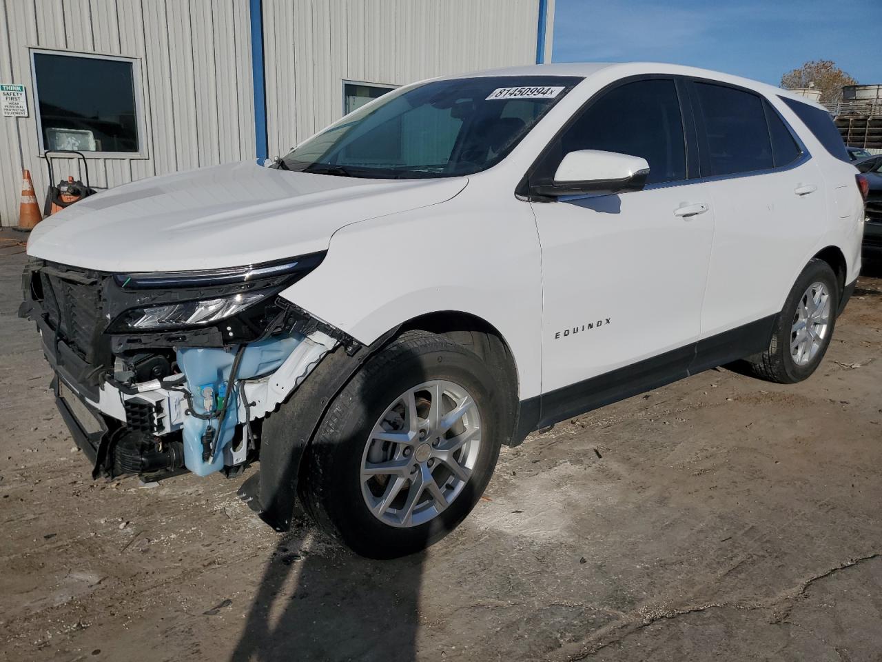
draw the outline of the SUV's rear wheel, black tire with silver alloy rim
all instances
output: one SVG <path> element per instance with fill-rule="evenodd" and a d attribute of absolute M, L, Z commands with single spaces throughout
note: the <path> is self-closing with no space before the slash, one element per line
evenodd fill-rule
<path fill-rule="evenodd" d="M 800 320 L 800 315 L 805 311 L 806 299 L 810 288 L 820 284 L 823 290 L 812 290 L 817 297 L 820 291 L 826 291 L 826 327 L 823 336 L 810 352 L 803 352 L 794 356 L 791 342 L 796 342 L 804 335 L 798 335 L 795 330 Z M 836 326 L 836 311 L 839 309 L 840 289 L 833 269 L 823 260 L 811 260 L 803 269 L 794 283 L 793 288 L 784 303 L 781 314 L 775 320 L 772 330 L 772 338 L 768 349 L 755 357 L 748 359 L 753 372 L 760 379 L 775 381 L 779 384 L 795 384 L 808 378 L 818 368 L 826 354 L 830 339 L 833 337 L 833 328 Z M 811 303 L 809 304 L 811 306 Z M 811 318 L 820 319 L 820 318 Z M 820 329 L 818 324 L 809 324 L 816 332 Z M 800 343 L 805 347 L 805 343 Z"/>

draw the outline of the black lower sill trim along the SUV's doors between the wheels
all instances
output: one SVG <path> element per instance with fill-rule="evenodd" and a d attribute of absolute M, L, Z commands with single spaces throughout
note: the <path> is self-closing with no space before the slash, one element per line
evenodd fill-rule
<path fill-rule="evenodd" d="M 854 289 L 854 283 L 851 287 Z M 656 357 L 522 400 L 512 446 L 541 427 L 763 351 L 772 336 L 776 317 L 769 315 Z"/>

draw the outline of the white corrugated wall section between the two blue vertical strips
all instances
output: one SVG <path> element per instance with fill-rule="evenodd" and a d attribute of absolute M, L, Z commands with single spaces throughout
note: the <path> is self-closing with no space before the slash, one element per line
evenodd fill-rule
<path fill-rule="evenodd" d="M 338 119 L 343 80 L 534 63 L 538 15 L 538 0 L 264 0 L 269 153 Z"/>

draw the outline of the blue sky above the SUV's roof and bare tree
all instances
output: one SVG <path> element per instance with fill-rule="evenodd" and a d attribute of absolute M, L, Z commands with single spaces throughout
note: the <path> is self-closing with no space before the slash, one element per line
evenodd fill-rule
<path fill-rule="evenodd" d="M 782 73 L 825 59 L 859 83 L 882 83 L 882 0 L 556 4 L 554 62 L 690 64 L 777 85 Z"/>

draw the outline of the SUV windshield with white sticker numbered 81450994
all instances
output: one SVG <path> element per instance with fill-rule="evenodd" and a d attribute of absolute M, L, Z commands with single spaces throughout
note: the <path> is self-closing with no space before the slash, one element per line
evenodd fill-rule
<path fill-rule="evenodd" d="M 505 158 L 578 77 L 437 80 L 385 94 L 276 165 L 340 177 L 458 177 Z"/>

